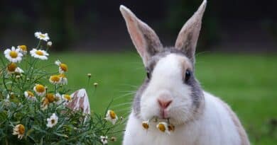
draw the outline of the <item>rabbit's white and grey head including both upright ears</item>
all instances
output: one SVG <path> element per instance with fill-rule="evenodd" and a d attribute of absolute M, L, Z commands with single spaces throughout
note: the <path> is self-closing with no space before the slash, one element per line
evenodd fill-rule
<path fill-rule="evenodd" d="M 146 68 L 146 81 L 134 98 L 141 120 L 158 117 L 173 124 L 195 119 L 204 106 L 203 92 L 194 76 L 195 47 L 207 1 L 185 23 L 175 47 L 163 47 L 156 33 L 129 8 L 120 6 L 136 50 Z"/>

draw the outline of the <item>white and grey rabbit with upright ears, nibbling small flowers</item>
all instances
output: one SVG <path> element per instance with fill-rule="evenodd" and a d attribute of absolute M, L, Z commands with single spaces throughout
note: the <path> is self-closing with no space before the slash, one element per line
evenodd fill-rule
<path fill-rule="evenodd" d="M 219 98 L 202 90 L 195 79 L 195 48 L 200 33 L 204 0 L 183 25 L 175 47 L 163 47 L 156 33 L 129 8 L 120 11 L 146 68 L 146 79 L 136 92 L 126 123 L 123 145 L 249 145 L 237 115 Z M 150 121 L 170 122 L 165 134 Z M 156 121 L 157 121 L 156 120 Z"/>

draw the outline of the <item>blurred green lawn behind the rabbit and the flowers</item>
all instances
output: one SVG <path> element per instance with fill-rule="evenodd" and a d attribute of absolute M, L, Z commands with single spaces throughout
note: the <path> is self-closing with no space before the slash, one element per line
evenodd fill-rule
<path fill-rule="evenodd" d="M 112 109 L 126 117 L 132 93 L 145 77 L 136 52 L 53 54 L 67 63 L 69 86 L 87 87 L 92 110 L 103 111 L 114 98 Z M 87 74 L 92 80 L 87 86 Z M 237 113 L 252 144 L 276 144 L 277 57 L 251 54 L 199 54 L 196 76 L 202 88 L 226 101 Z M 99 83 L 93 93 L 93 83 Z M 275 130 L 274 130 L 275 129 Z M 120 140 L 116 144 L 120 144 Z"/>

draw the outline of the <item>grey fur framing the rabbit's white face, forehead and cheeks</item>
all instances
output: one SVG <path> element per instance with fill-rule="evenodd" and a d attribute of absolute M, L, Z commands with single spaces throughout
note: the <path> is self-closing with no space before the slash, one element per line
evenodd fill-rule
<path fill-rule="evenodd" d="M 153 69 L 155 69 L 157 62 L 161 58 L 167 56 L 168 54 L 173 54 L 173 53 L 180 54 L 181 56 L 186 57 L 186 54 L 183 51 L 177 50 L 177 49 L 175 49 L 175 47 L 165 47 L 163 49 L 163 52 L 158 52 L 157 54 L 153 55 L 153 57 L 151 57 L 149 59 L 148 64 L 146 66 L 146 70 L 150 71 L 150 73 L 151 73 L 153 71 Z M 192 62 L 190 62 L 190 63 L 192 63 Z M 192 66 L 193 66 L 193 64 L 192 64 Z M 139 117 L 139 118 L 140 118 L 140 112 L 141 112 L 141 95 L 142 95 L 143 91 L 146 90 L 149 81 L 150 81 L 150 79 L 147 79 L 147 78 L 145 79 L 142 86 L 136 92 L 136 95 L 134 98 L 133 110 L 134 110 L 136 117 Z M 192 70 L 192 76 L 190 76 L 189 81 L 185 84 L 190 86 L 191 91 L 192 91 L 192 93 L 191 93 L 192 104 L 193 104 L 192 112 L 194 112 L 195 114 L 198 114 L 199 112 L 201 112 L 200 108 L 201 108 L 202 104 L 204 103 L 204 94 L 202 92 L 200 83 L 198 83 L 198 81 L 195 79 L 195 76 L 193 75 L 193 70 Z"/>

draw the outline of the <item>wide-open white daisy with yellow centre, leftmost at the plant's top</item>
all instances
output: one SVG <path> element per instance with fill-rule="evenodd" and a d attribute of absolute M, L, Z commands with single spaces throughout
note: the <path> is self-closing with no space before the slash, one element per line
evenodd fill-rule
<path fill-rule="evenodd" d="M 9 59 L 10 62 L 21 62 L 23 54 L 20 52 L 19 49 L 15 47 L 11 47 L 11 49 L 6 49 L 4 51 L 6 59 Z"/>

